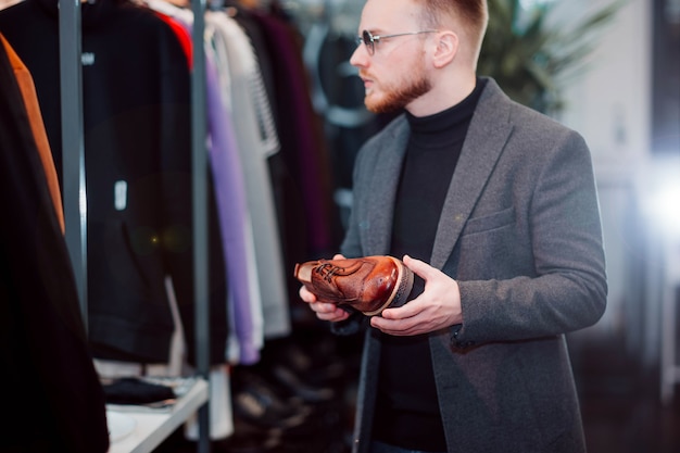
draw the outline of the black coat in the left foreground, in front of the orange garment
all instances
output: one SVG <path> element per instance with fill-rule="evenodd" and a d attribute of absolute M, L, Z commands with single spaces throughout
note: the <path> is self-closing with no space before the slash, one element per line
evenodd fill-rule
<path fill-rule="evenodd" d="M 0 43 L 0 451 L 104 453 L 104 393 L 45 169 Z"/>

